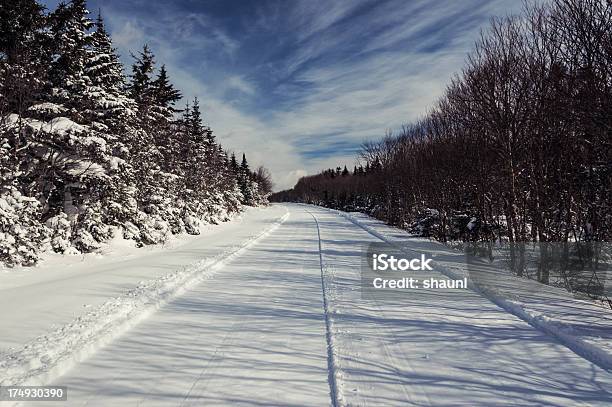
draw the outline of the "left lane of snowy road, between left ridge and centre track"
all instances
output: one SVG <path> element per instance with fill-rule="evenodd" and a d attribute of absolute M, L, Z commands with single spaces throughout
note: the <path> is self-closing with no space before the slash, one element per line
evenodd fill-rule
<path fill-rule="evenodd" d="M 68 405 L 326 405 L 318 240 L 287 226 L 57 383 Z"/>

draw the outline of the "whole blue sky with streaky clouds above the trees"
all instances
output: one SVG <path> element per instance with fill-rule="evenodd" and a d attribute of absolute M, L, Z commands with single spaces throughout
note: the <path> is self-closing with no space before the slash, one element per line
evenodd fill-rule
<path fill-rule="evenodd" d="M 54 8 L 57 1 L 43 1 Z M 126 63 L 149 44 L 221 143 L 276 189 L 355 164 L 426 113 L 492 16 L 518 0 L 90 0 Z"/>

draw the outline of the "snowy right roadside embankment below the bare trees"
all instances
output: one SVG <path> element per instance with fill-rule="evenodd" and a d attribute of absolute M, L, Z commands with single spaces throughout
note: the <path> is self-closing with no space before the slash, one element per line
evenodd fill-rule
<path fill-rule="evenodd" d="M 328 209 L 329 210 L 329 209 Z M 380 240 L 401 245 L 402 250 L 431 254 L 436 270 L 448 278 L 468 278 L 468 287 L 505 311 L 553 336 L 578 355 L 612 370 L 612 311 L 597 303 L 574 298 L 571 293 L 501 271 L 495 262 L 470 264 L 447 246 L 409 235 L 362 213 L 330 210 Z M 410 239 L 410 249 L 405 247 Z"/>

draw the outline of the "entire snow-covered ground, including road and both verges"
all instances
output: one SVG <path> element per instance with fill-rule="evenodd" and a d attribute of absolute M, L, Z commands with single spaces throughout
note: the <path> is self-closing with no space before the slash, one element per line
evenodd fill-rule
<path fill-rule="evenodd" d="M 271 230 L 285 208 L 289 216 Z M 401 242 L 434 257 L 435 270 L 424 276 L 462 275 L 463 259 L 444 245 L 364 215 L 294 204 L 209 228 L 144 256 L 112 247 L 118 258 L 72 258 L 68 266 L 71 258 L 53 258 L 32 272 L 0 274 L 0 306 L 17 314 L 0 315 L 0 324 L 8 341 L 30 345 L 13 354 L 36 354 L 23 359 L 36 380 L 23 364 L 11 365 L 9 377 L 68 386 L 65 405 L 88 406 L 612 402 L 612 374 L 601 360 L 500 307 L 487 291 L 362 294 L 365 245 Z M 216 267 L 207 263 L 216 259 Z M 479 271 L 481 285 L 487 272 Z M 502 282 L 504 295 L 533 284 Z M 537 288 L 509 301 L 606 351 L 602 308 Z M 51 322 L 60 328 L 49 331 Z M 38 374 L 51 365 L 46 377 Z"/>

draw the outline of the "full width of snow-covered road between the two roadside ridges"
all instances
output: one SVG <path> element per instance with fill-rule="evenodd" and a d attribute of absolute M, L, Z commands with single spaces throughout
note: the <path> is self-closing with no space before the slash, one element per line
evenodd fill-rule
<path fill-rule="evenodd" d="M 213 278 L 57 378 L 66 405 L 612 404 L 612 374 L 473 291 L 362 298 L 362 245 L 380 239 L 286 207 Z"/>

